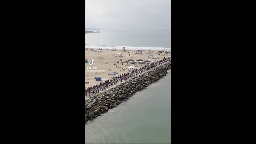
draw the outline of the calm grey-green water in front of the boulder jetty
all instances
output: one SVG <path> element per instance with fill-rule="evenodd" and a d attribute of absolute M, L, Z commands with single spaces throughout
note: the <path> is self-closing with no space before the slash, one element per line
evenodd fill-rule
<path fill-rule="evenodd" d="M 171 143 L 171 72 L 85 124 L 85 143 Z"/>

